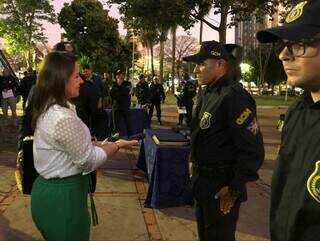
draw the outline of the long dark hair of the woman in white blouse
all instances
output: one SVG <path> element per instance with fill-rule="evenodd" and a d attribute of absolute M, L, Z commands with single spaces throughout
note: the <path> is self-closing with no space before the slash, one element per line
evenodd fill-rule
<path fill-rule="evenodd" d="M 33 96 L 32 128 L 35 129 L 39 116 L 54 104 L 68 108 L 65 85 L 70 79 L 76 58 L 68 52 L 49 53 L 37 77 Z"/>

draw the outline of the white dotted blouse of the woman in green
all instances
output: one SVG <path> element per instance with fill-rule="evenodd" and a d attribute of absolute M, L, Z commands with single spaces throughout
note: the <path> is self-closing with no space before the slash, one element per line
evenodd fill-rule
<path fill-rule="evenodd" d="M 33 156 L 37 172 L 44 178 L 62 178 L 96 170 L 107 160 L 94 146 L 90 131 L 78 118 L 75 106 L 51 106 L 37 121 Z"/>

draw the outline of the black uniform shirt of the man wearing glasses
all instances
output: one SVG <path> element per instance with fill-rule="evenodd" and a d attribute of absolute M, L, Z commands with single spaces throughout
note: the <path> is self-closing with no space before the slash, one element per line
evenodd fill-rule
<path fill-rule="evenodd" d="M 305 93 L 286 114 L 272 179 L 271 240 L 320 240 L 320 101 Z"/>

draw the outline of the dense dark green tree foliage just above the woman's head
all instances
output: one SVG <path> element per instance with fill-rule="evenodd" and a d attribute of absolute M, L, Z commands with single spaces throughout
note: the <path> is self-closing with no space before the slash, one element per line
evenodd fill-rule
<path fill-rule="evenodd" d="M 98 73 L 113 73 L 131 66 L 130 43 L 118 32 L 118 20 L 97 0 L 74 0 L 65 4 L 58 16 L 66 37 L 77 54 Z"/>

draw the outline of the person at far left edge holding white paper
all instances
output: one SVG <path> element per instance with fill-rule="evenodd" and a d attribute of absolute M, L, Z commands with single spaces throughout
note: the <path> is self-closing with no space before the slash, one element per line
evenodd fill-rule
<path fill-rule="evenodd" d="M 18 80 L 11 74 L 10 69 L 4 69 L 0 77 L 1 106 L 5 125 L 8 123 L 8 107 L 10 107 L 13 124 L 18 124 L 17 118 L 17 100 L 16 96 L 19 90 Z"/>

